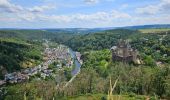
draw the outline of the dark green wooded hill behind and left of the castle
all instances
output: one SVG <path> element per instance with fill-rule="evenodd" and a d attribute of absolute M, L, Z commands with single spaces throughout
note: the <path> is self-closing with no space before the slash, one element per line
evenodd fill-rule
<path fill-rule="evenodd" d="M 114 29 L 74 36 L 69 41 L 65 42 L 65 44 L 78 51 L 101 50 L 111 48 L 119 39 L 129 39 L 138 34 L 140 34 L 140 32 L 135 30 Z"/>

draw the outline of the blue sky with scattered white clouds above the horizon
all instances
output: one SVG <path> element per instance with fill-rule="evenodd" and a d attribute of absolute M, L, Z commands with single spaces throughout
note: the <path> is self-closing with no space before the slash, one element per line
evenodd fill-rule
<path fill-rule="evenodd" d="M 170 24 L 170 0 L 0 0 L 0 28 Z"/>

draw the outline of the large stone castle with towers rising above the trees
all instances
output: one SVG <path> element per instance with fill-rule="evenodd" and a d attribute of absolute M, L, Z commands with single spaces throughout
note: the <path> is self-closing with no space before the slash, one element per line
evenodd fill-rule
<path fill-rule="evenodd" d="M 120 40 L 117 46 L 111 48 L 112 60 L 122 62 L 134 62 L 137 63 L 138 52 L 131 48 L 129 43 L 125 40 Z"/>

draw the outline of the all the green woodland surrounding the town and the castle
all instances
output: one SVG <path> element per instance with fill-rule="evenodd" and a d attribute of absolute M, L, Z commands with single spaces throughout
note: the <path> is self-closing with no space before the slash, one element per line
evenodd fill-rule
<path fill-rule="evenodd" d="M 23 34 L 24 33 L 24 34 Z M 36 33 L 36 34 L 32 34 Z M 29 35 L 31 34 L 31 35 Z M 170 97 L 170 35 L 160 41 L 164 33 L 143 34 L 139 31 L 116 29 L 100 33 L 73 35 L 67 33 L 49 33 L 37 30 L 0 31 L 2 37 L 19 37 L 26 40 L 1 39 L 0 66 L 9 72 L 20 70 L 21 62 L 38 63 L 42 60 L 41 42 L 29 39 L 52 39 L 58 43 L 70 46 L 83 54 L 81 72 L 67 88 L 57 88 L 50 77 L 46 81 L 28 82 L 7 86 L 6 100 L 33 100 L 42 98 L 56 99 L 106 99 L 109 90 L 109 79 L 112 83 L 119 77 L 113 91 L 115 98 L 120 95 L 123 99 L 144 100 L 141 95 L 148 95 L 152 100 Z M 129 39 L 133 48 L 137 49 L 144 65 L 130 65 L 111 61 L 108 50 L 116 45 L 119 39 Z M 22 42 L 23 41 L 23 42 Z M 52 45 L 53 46 L 53 45 Z M 167 66 L 156 67 L 155 62 L 167 63 Z M 50 65 L 54 68 L 56 63 Z M 1 75 L 1 74 L 0 74 Z M 38 74 L 39 75 L 39 74 Z M 66 80 L 70 80 L 71 69 L 65 69 Z M 50 80 L 50 82 L 48 82 Z M 61 86 L 62 87 L 62 86 Z M 100 93 L 100 94 L 99 94 Z M 99 94 L 99 95 L 96 95 Z M 125 95 L 124 95 L 125 94 Z"/>

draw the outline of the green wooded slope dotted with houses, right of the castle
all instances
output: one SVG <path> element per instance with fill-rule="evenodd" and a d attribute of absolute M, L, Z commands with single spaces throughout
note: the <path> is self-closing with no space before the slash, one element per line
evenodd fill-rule
<path fill-rule="evenodd" d="M 165 33 L 136 35 L 130 44 L 140 52 L 142 59 L 148 65 L 154 65 L 156 61 L 169 63 L 170 34 L 165 35 Z M 147 60 L 149 60 L 149 62 L 147 62 Z"/>

